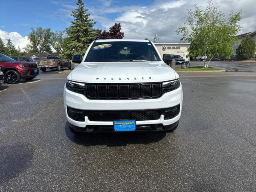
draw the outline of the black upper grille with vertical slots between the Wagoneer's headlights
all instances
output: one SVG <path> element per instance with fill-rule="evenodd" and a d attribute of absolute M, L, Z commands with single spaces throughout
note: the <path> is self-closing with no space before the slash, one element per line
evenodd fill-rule
<path fill-rule="evenodd" d="M 162 84 L 86 84 L 89 99 L 157 98 Z"/>

